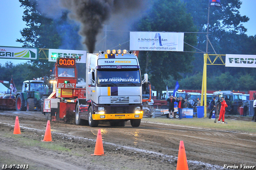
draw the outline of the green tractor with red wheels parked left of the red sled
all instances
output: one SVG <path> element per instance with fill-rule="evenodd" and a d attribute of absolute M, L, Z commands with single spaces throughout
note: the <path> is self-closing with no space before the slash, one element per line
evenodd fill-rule
<path fill-rule="evenodd" d="M 41 111 L 41 99 L 44 96 L 43 80 L 26 80 L 22 92 L 16 94 L 17 111 Z"/>

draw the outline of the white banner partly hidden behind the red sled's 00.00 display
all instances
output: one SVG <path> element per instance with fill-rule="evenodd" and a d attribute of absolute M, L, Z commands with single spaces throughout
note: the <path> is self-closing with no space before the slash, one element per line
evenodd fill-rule
<path fill-rule="evenodd" d="M 48 61 L 56 62 L 56 58 L 73 58 L 75 56 L 81 56 L 81 60 L 77 60 L 77 63 L 86 63 L 86 51 L 84 50 L 61 50 L 61 49 L 49 49 Z"/>

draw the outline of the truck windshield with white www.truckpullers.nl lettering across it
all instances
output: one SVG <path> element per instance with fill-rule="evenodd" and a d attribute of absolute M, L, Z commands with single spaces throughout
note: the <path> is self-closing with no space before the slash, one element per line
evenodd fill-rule
<path fill-rule="evenodd" d="M 97 70 L 97 84 L 126 84 L 140 86 L 140 70 Z"/>

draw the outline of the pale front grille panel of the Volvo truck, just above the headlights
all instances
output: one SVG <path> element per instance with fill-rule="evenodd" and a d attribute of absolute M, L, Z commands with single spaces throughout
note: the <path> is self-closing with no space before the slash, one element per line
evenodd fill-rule
<path fill-rule="evenodd" d="M 99 104 L 139 104 L 140 96 L 100 96 Z"/>

